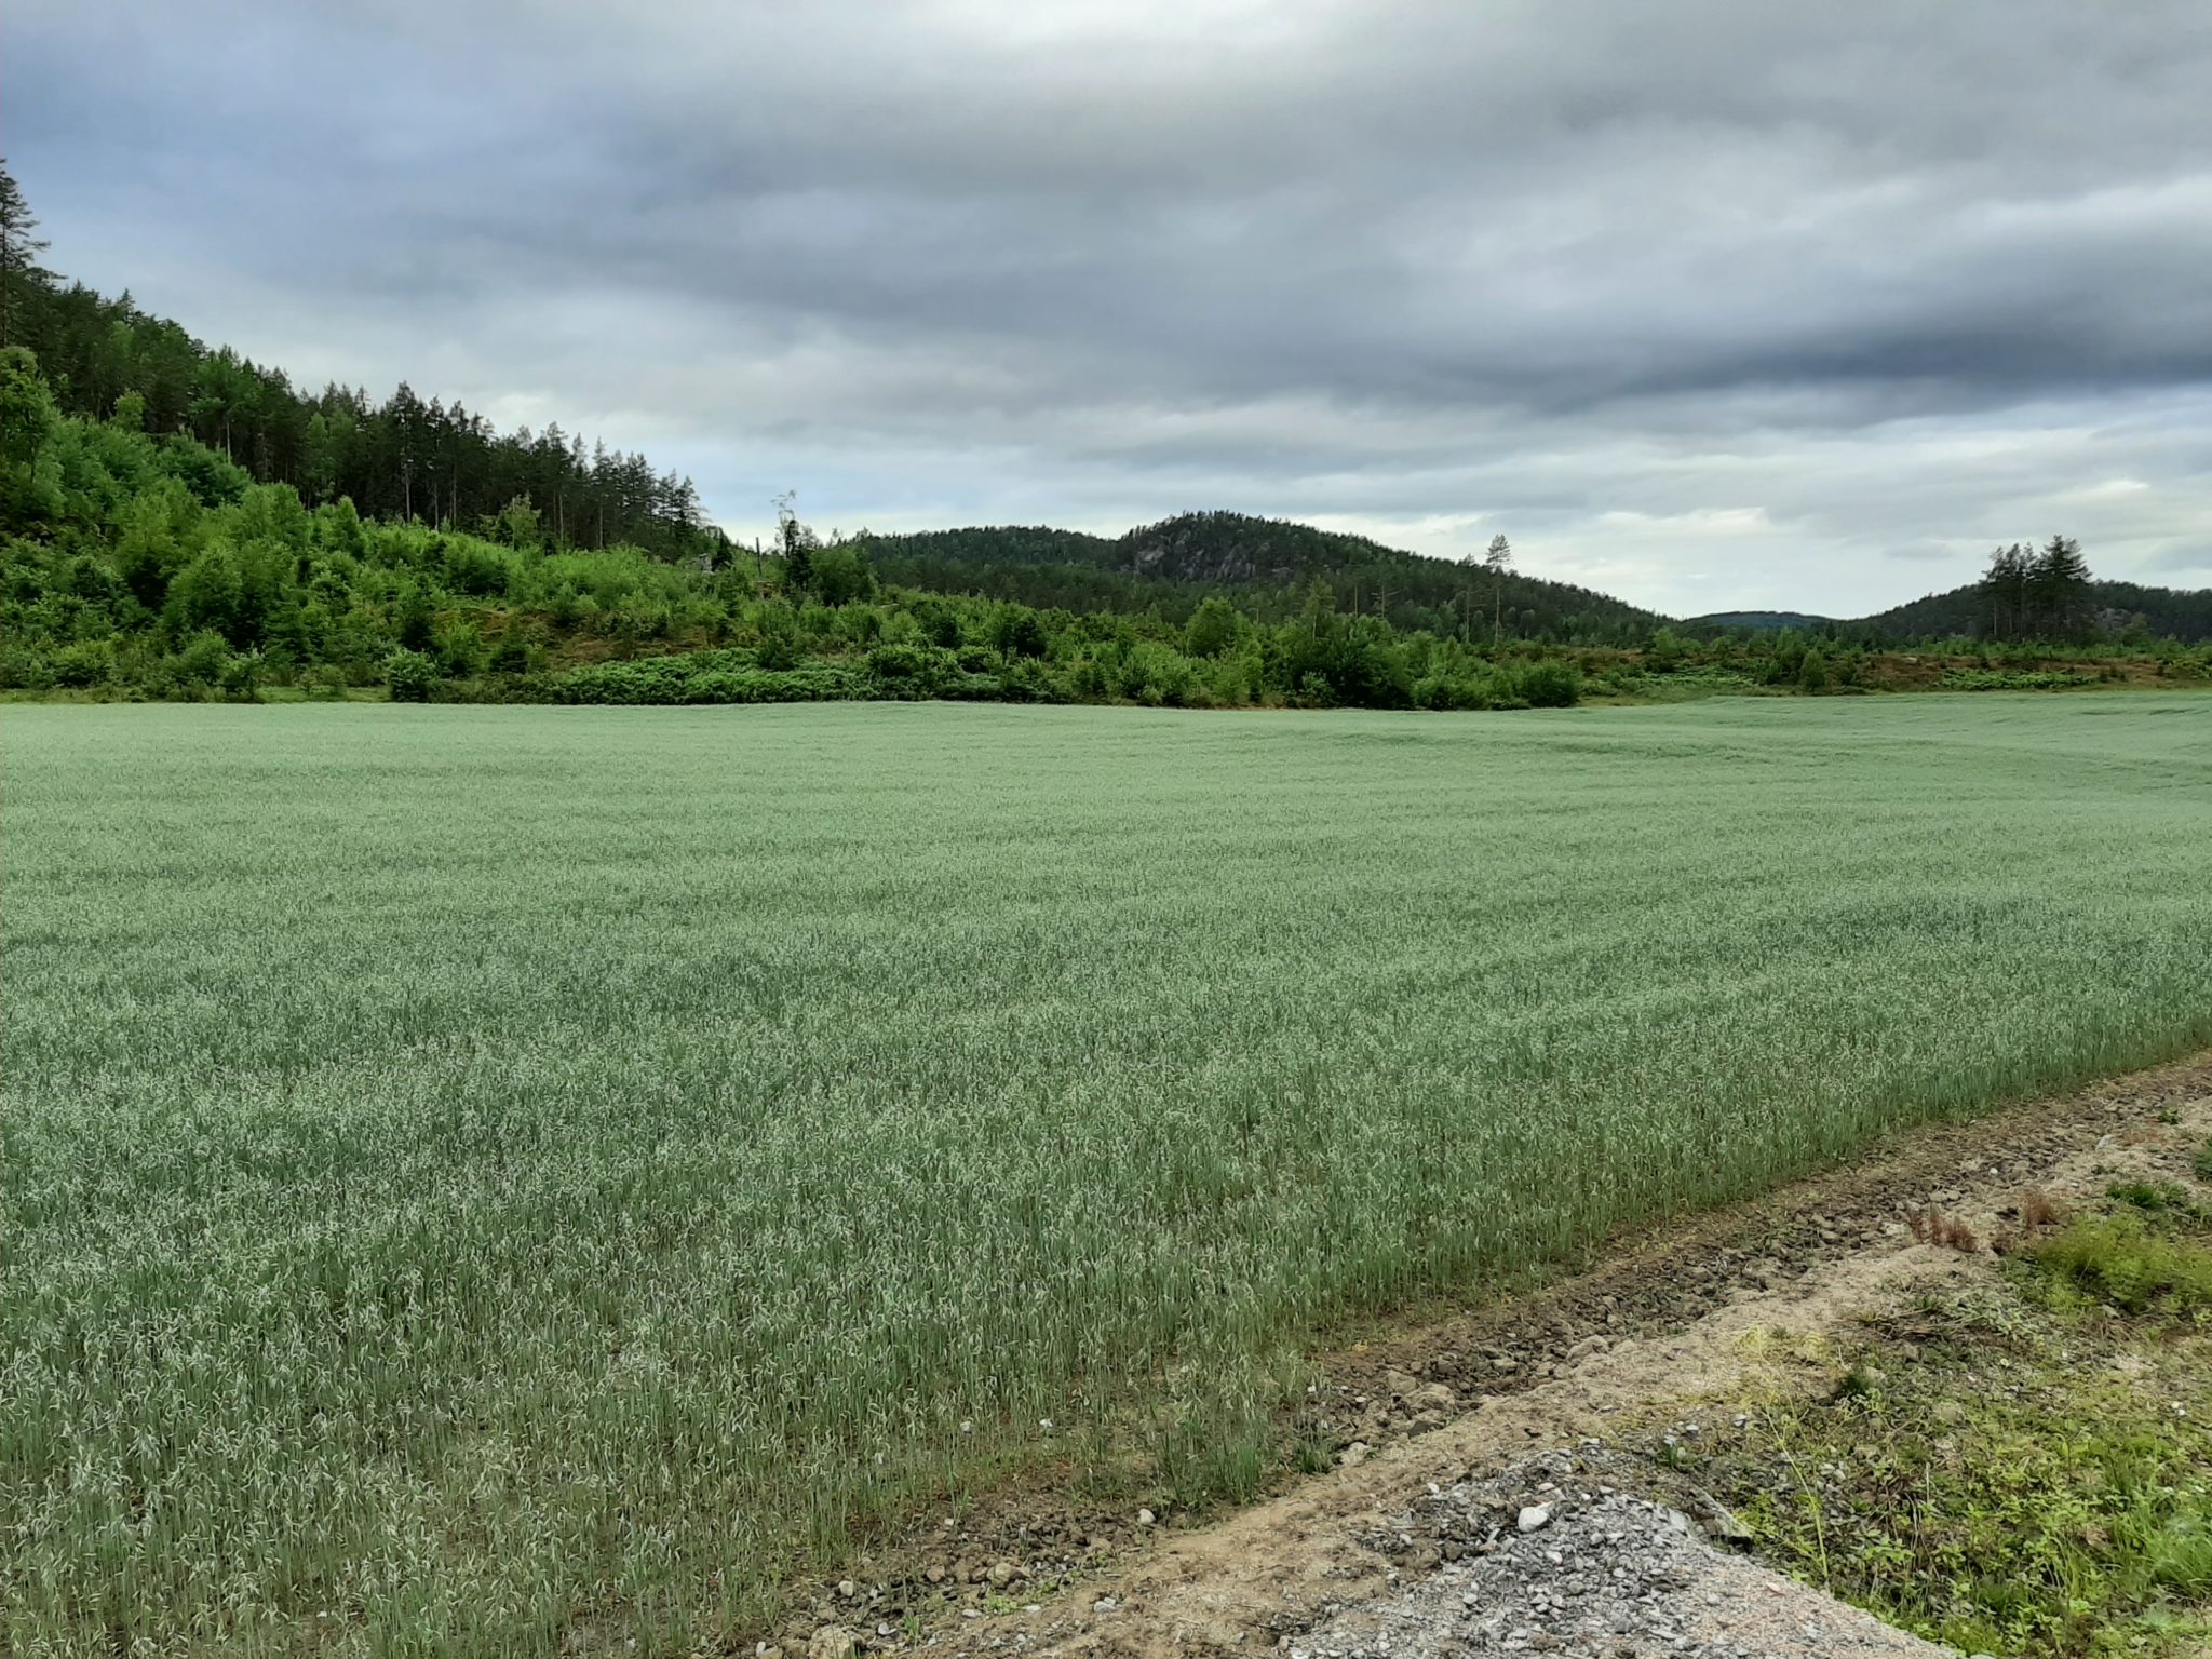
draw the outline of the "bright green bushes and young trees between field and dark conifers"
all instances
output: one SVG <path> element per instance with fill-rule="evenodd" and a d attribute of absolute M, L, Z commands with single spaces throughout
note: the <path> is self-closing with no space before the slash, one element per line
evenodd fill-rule
<path fill-rule="evenodd" d="M 144 697 L 761 701 L 1000 697 L 1157 706 L 1573 703 L 1579 666 L 1223 597 L 1075 613 L 885 584 L 867 542 L 785 515 L 776 555 L 573 549 L 524 500 L 482 533 L 257 482 L 192 434 L 66 414 L 0 352 L 0 686 Z"/>

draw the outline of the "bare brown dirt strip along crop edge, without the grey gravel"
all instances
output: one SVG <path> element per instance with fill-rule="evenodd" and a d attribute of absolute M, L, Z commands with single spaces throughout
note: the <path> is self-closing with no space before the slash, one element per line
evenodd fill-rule
<path fill-rule="evenodd" d="M 1847 1170 L 1652 1230 L 1595 1270 L 1535 1294 L 1327 1356 L 1329 1385 L 1316 1396 L 1314 1427 L 1349 1442 L 1334 1473 L 1190 1531 L 1146 1528 L 1133 1517 L 1053 1517 L 1040 1511 L 1037 1493 L 1013 1493 L 967 1526 L 945 1528 L 936 1546 L 953 1568 L 962 1559 L 1004 1559 L 1013 1577 L 1000 1586 L 1000 1606 L 1022 1599 L 1035 1610 L 971 1606 L 922 1615 L 920 1641 L 975 1655 L 1144 1659 L 1250 1655 L 1279 1644 L 1367 1652 L 1345 1632 L 1400 1628 L 1422 1586 L 1478 1566 L 1482 1551 L 1469 1553 L 1436 1528 L 1409 1524 L 1438 1493 L 1500 1493 L 1526 1484 L 1520 1471 L 1546 1467 L 1531 1458 L 1568 1451 L 1599 1458 L 1595 1467 L 1606 1473 L 1584 1480 L 1593 1500 L 1610 1475 L 1608 1484 L 1635 1484 L 1644 1495 L 1694 1509 L 1694 1495 L 1670 1491 L 1663 1471 L 1646 1464 L 1630 1482 L 1606 1453 L 1584 1449 L 1630 1422 L 1694 1411 L 1705 1398 L 1834 1380 L 1838 1343 L 1863 1314 L 1893 1307 L 1929 1283 L 1989 1272 L 1989 1259 L 1975 1250 L 1922 1243 L 1916 1232 L 1927 1228 L 1916 1217 L 1940 1214 L 1964 1228 L 1971 1243 L 1986 1245 L 2008 1225 L 2024 1190 L 2101 1190 L 2112 1170 L 2188 1137 L 2201 1144 L 2208 1130 L 2212 1055 L 2201 1055 L 2066 1099 L 1898 1135 Z M 1701 1540 L 1697 1548 L 1730 1573 L 1763 1573 Z M 916 1593 L 956 1590 L 962 1579 L 942 1566 L 938 1579 L 922 1579 L 918 1559 L 909 1548 L 887 1553 L 883 1577 L 843 1597 L 827 1593 L 810 1626 L 841 1624 L 869 1646 L 896 1646 L 878 1637 L 878 1624 L 914 1608 Z M 1071 1562 L 1086 1562 L 1073 1573 L 1073 1588 L 1051 1595 L 1024 1588 L 1033 1582 L 1029 1573 L 1066 1582 Z M 1843 1621 L 1863 1615 L 1783 1584 L 1776 1579 L 1767 1593 L 1814 1597 L 1832 1610 L 1823 1628 L 1834 1635 L 1787 1646 L 1790 1630 L 1807 1619 L 1820 1624 L 1818 1613 L 1792 1601 L 1794 1617 L 1774 1626 L 1781 1635 L 1772 1641 L 1781 1646 L 1725 1646 L 1717 1637 L 1721 1646 L 1652 1650 L 1933 1652 L 1898 1632 L 1887 1635 L 1902 1646 L 1836 1646 Z M 911 1632 L 914 1626 L 909 1641 Z M 1338 1639 L 1329 1641 L 1329 1632 Z M 1513 1632 L 1500 1635 L 1504 1650 L 1546 1646 L 1506 1644 L 1504 1635 Z M 805 1637 L 796 1650 L 803 1646 Z M 1400 1628 L 1391 1650 L 1431 1648 Z M 1458 1646 L 1440 1650 L 1484 1648 L 1480 1637 L 1460 1632 Z M 1619 1646 L 1595 1652 L 1644 1648 L 1628 1646 L 1624 1635 Z"/>

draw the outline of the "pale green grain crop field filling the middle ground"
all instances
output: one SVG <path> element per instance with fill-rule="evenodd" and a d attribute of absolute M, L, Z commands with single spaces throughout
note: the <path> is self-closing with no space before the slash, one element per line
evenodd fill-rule
<path fill-rule="evenodd" d="M 1329 1321 L 2212 1042 L 2212 697 L 0 754 L 18 1655 L 714 1648 L 1009 1462 L 1248 1486 Z"/>

